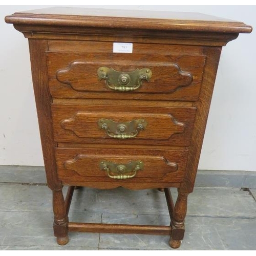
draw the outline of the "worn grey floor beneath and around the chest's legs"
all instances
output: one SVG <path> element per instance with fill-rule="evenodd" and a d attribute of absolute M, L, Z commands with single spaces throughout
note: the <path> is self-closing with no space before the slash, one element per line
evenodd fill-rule
<path fill-rule="evenodd" d="M 44 179 L 44 174 L 0 169 L 0 250 L 172 250 L 168 236 L 141 234 L 70 233 L 70 242 L 58 246 L 52 231 L 51 191 L 44 182 L 24 183 L 26 175 L 27 180 Z M 172 193 L 176 198 L 175 189 Z M 255 199 L 256 189 L 196 187 L 188 198 L 179 249 L 255 250 Z M 169 224 L 164 194 L 157 189 L 75 190 L 69 219 Z"/>

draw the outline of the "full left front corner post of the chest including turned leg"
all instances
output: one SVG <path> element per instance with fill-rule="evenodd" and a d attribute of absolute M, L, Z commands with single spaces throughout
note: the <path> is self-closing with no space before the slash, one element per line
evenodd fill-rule
<path fill-rule="evenodd" d="M 60 245 L 67 244 L 68 216 L 62 193 L 62 184 L 58 179 L 55 159 L 53 123 L 51 104 L 52 97 L 48 86 L 47 58 L 48 40 L 29 39 L 31 71 L 39 123 L 42 153 L 44 156 L 47 184 L 53 193 L 54 235 Z"/>

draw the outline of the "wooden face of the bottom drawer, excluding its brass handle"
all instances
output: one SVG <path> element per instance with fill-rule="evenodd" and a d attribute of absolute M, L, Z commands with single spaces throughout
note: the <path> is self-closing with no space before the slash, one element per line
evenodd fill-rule
<path fill-rule="evenodd" d="M 115 187 L 133 183 L 174 182 L 183 180 L 186 167 L 186 150 L 114 150 L 86 148 L 56 148 L 58 176 L 63 182 L 77 181 L 112 183 Z M 126 164 L 143 161 L 144 168 L 127 180 L 115 180 L 100 169 L 101 161 Z M 174 168 L 173 164 L 177 167 Z M 90 185 L 89 185 L 90 186 Z"/>

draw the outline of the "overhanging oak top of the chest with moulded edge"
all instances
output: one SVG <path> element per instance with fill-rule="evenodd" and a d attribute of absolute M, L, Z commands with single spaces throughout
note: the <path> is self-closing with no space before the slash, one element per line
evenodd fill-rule
<path fill-rule="evenodd" d="M 16 12 L 13 15 L 6 16 L 5 21 L 14 25 L 29 26 L 100 27 L 219 33 L 250 33 L 252 31 L 252 27 L 244 23 L 200 13 L 93 8 L 53 7 Z"/>

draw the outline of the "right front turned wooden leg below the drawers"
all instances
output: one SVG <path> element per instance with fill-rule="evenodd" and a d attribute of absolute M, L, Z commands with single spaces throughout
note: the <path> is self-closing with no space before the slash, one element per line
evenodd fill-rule
<path fill-rule="evenodd" d="M 169 240 L 169 245 L 172 248 L 179 248 L 181 240 L 184 237 L 185 225 L 184 220 L 187 212 L 187 196 L 188 193 L 183 193 L 178 189 L 178 198 L 174 207 L 172 225 L 172 236 Z"/>

